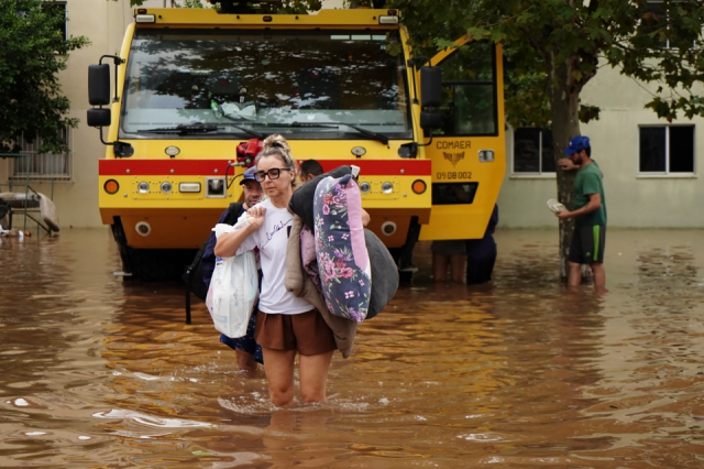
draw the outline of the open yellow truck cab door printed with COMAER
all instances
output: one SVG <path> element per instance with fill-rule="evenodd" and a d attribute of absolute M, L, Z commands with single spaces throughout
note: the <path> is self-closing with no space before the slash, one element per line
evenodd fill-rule
<path fill-rule="evenodd" d="M 506 171 L 501 46 L 469 42 L 430 65 L 442 70 L 441 122 L 421 146 L 432 162 L 432 208 L 419 239 L 482 238 Z"/>

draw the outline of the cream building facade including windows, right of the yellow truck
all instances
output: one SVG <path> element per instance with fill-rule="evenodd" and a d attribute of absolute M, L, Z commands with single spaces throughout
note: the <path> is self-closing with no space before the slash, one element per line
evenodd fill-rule
<path fill-rule="evenodd" d="M 644 106 L 657 85 L 636 83 L 606 66 L 586 85 L 582 102 L 601 108 L 597 121 L 581 126 L 592 157 L 604 173 L 609 227 L 703 228 L 704 198 L 698 157 L 704 154 L 704 119 L 658 119 Z M 698 90 L 702 92 L 702 89 Z M 540 133 L 540 135 L 537 135 Z M 546 200 L 557 197 L 548 131 L 507 132 L 507 172 L 498 199 L 502 225 L 557 227 Z M 542 145 L 540 145 L 542 143 Z M 541 150 L 547 152 L 540 161 Z"/>

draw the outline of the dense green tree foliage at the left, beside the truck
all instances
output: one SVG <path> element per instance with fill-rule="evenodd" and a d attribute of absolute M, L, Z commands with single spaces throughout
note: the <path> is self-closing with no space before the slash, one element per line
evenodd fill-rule
<path fill-rule="evenodd" d="M 63 9 L 38 0 L 0 1 L 0 152 L 18 152 L 24 138 L 42 140 L 40 151 L 66 150 L 59 130 L 76 127 L 67 117 L 58 72 L 68 52 L 88 44 L 86 37 L 64 40 Z M 59 14 L 61 12 L 61 14 Z"/>

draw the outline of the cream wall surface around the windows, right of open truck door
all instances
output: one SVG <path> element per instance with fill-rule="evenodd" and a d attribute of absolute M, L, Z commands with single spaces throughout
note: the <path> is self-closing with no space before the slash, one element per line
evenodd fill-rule
<path fill-rule="evenodd" d="M 704 185 L 697 177 L 697 155 L 704 154 L 704 120 L 680 119 L 695 124 L 694 176 L 638 175 L 638 126 L 667 124 L 644 105 L 656 86 L 626 78 L 610 67 L 600 69 L 587 84 L 582 102 L 602 108 L 598 121 L 582 124 L 592 140 L 592 156 L 604 172 L 608 225 L 623 228 L 704 228 Z M 700 90 L 701 92 L 701 90 Z M 507 153 L 512 134 L 507 133 Z M 558 226 L 546 200 L 556 198 L 553 176 L 510 174 L 510 164 L 498 199 L 501 226 L 542 228 Z"/>

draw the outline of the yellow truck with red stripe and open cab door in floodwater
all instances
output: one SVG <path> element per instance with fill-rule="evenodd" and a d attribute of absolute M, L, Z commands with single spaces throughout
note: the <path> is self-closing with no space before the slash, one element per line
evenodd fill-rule
<path fill-rule="evenodd" d="M 408 34 L 396 10 L 135 9 L 120 55 L 89 68 L 99 208 L 124 273 L 180 273 L 242 196 L 238 146 L 272 133 L 299 162 L 359 166 L 392 250 L 417 225 L 420 240 L 483 237 L 506 166 L 501 47 L 415 57 Z"/>

